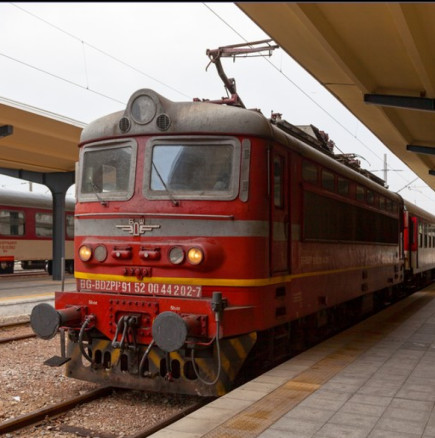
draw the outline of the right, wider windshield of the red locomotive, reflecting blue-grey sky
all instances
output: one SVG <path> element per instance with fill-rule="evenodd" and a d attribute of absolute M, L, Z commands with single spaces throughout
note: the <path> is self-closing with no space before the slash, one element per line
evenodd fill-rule
<path fill-rule="evenodd" d="M 240 148 L 232 142 L 155 142 L 147 151 L 148 198 L 234 199 Z"/>

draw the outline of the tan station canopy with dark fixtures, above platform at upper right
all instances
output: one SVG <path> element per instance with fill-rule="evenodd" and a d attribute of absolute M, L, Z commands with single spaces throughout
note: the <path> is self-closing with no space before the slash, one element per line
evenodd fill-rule
<path fill-rule="evenodd" d="M 435 189 L 435 3 L 236 3 Z"/>

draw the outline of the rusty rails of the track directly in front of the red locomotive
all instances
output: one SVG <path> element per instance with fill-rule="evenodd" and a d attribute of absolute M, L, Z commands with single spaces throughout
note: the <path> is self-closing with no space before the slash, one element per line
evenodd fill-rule
<path fill-rule="evenodd" d="M 58 417 L 62 414 L 69 412 L 74 409 L 76 406 L 84 403 L 88 403 L 93 400 L 97 400 L 100 398 L 104 398 L 110 396 L 113 392 L 114 388 L 112 387 L 102 387 L 93 391 L 89 391 L 83 395 L 70 398 L 66 401 L 56 403 L 50 407 L 38 409 L 36 411 L 30 412 L 28 414 L 21 415 L 17 418 L 13 418 L 11 420 L 7 420 L 3 423 L 0 423 L 0 435 L 5 433 L 11 433 L 25 427 L 29 427 L 32 425 L 37 425 L 43 421 L 47 421 L 51 418 Z M 203 399 L 193 405 L 187 406 L 181 412 L 177 412 L 176 414 L 170 416 L 169 418 L 159 422 L 158 424 L 143 429 L 133 435 L 130 435 L 129 438 L 145 438 L 150 436 L 151 434 L 167 427 L 168 425 L 178 421 L 180 418 L 190 414 L 191 412 L 196 411 L 200 407 L 206 405 L 210 402 L 210 399 Z M 116 438 L 115 435 L 110 433 L 105 433 L 101 431 L 89 430 L 83 427 L 77 426 L 69 426 L 69 425 L 60 425 L 58 430 L 62 432 L 69 432 L 78 434 L 83 437 L 92 437 L 98 436 L 100 438 Z"/>

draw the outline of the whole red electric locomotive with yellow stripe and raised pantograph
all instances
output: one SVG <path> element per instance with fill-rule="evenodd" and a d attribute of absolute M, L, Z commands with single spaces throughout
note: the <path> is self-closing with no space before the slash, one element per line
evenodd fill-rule
<path fill-rule="evenodd" d="M 31 315 L 38 336 L 68 334 L 48 363 L 70 377 L 221 395 L 301 331 L 368 313 L 434 267 L 415 263 L 420 225 L 409 232 L 399 195 L 315 127 L 245 109 L 218 71 L 221 104 L 142 89 L 83 130 L 77 291 Z"/>

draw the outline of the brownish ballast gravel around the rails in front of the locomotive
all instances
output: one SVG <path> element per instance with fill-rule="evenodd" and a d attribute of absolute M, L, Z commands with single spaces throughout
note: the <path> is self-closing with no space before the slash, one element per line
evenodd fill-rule
<path fill-rule="evenodd" d="M 0 339 L 26 333 L 32 333 L 29 326 L 1 327 Z M 49 341 L 29 338 L 0 344 L 0 424 L 98 387 L 65 377 L 63 367 L 43 365 L 46 359 L 59 355 L 59 351 L 59 336 Z M 127 437 L 155 426 L 200 400 L 199 397 L 115 390 L 109 397 L 82 404 L 57 418 L 4 436 Z"/>

